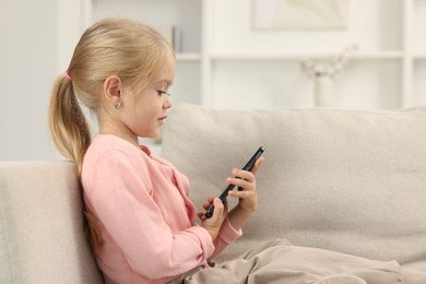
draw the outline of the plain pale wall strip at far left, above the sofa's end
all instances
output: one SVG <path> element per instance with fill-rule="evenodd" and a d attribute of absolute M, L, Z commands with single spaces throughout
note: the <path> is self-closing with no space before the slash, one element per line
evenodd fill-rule
<path fill-rule="evenodd" d="M 52 157 L 47 106 L 57 59 L 57 1 L 0 1 L 0 161 Z"/>

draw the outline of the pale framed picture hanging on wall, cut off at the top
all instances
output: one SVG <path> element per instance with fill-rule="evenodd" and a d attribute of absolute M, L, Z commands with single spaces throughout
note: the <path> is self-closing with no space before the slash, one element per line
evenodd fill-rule
<path fill-rule="evenodd" d="M 252 0 L 255 29 L 347 28 L 350 0 Z"/>

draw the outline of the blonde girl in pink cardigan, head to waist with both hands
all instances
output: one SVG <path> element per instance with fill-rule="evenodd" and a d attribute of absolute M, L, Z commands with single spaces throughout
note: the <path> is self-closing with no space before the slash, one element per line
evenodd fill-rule
<path fill-rule="evenodd" d="M 229 213 L 218 199 L 205 220 L 188 199 L 189 182 L 140 146 L 155 138 L 171 107 L 175 56 L 141 23 L 106 19 L 82 35 L 67 72 L 55 82 L 49 109 L 54 141 L 78 165 L 91 244 L 106 283 L 166 283 L 209 260 L 241 235 L 257 206 L 256 173 L 234 169 L 242 188 Z M 79 102 L 93 111 L 91 139 Z M 238 177 L 238 179 L 236 178 Z M 196 224 L 197 214 L 201 225 Z"/>

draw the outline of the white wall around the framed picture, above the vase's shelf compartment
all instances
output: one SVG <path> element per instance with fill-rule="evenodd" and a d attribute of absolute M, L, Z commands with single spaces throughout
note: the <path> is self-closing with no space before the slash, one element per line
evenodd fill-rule
<path fill-rule="evenodd" d="M 351 0 L 347 28 L 275 29 L 252 27 L 252 0 L 215 1 L 212 50 L 216 54 L 296 54 L 335 50 L 356 42 L 360 52 L 401 49 L 403 0 Z M 232 23 L 232 24 L 230 24 Z M 391 31 L 391 33 L 389 33 Z"/>

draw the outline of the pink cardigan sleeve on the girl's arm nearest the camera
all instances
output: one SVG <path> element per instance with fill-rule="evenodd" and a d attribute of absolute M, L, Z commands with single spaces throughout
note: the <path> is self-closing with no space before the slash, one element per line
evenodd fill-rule
<path fill-rule="evenodd" d="M 104 154 L 94 169 L 97 178 L 90 196 L 95 213 L 129 265 L 158 279 L 205 263 L 214 251 L 209 233 L 199 226 L 173 233 L 152 198 L 147 170 L 131 161 L 119 151 Z"/>

